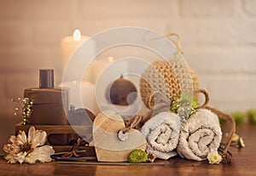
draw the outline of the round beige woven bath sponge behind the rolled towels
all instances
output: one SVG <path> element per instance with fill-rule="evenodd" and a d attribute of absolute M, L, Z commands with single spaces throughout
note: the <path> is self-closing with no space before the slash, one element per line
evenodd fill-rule
<path fill-rule="evenodd" d="M 198 93 L 195 93 L 195 90 L 199 88 L 198 79 L 195 72 L 180 57 L 180 55 L 175 54 L 170 61 L 157 60 L 143 71 L 140 80 L 140 93 L 143 103 L 149 109 L 158 103 L 154 102 L 157 97 L 149 102 L 152 94 L 156 92 L 165 94 L 171 100 L 180 96 L 182 92 L 194 94 L 195 98 L 198 99 Z"/>

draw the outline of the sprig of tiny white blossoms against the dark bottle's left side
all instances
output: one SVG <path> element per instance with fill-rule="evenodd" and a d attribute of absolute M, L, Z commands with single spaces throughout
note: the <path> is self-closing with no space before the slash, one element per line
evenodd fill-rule
<path fill-rule="evenodd" d="M 20 116 L 22 118 L 22 124 L 26 125 L 26 123 L 28 122 L 29 117 L 32 114 L 32 104 L 33 102 L 30 101 L 30 99 L 28 98 L 24 98 L 24 99 L 11 99 L 11 101 L 18 103 L 18 105 L 21 107 L 22 110 L 22 116 Z M 19 108 L 15 108 L 15 116 L 19 116 Z"/>

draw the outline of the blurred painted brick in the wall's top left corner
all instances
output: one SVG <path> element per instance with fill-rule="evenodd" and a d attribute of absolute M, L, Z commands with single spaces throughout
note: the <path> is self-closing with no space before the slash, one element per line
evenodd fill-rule
<path fill-rule="evenodd" d="M 72 14 L 77 0 L 3 0 L 0 2 L 0 18 L 3 20 L 72 20 Z"/>

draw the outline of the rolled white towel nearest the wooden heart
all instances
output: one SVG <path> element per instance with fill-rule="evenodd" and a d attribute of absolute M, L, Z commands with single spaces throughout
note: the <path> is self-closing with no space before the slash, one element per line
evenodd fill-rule
<path fill-rule="evenodd" d="M 180 126 L 179 116 L 170 111 L 151 117 L 141 130 L 147 140 L 147 151 L 164 160 L 176 156 Z"/>

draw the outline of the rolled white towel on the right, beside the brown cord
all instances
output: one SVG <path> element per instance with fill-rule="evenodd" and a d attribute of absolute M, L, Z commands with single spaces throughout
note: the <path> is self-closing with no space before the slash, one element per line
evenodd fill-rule
<path fill-rule="evenodd" d="M 206 109 L 198 110 L 181 128 L 177 153 L 189 160 L 202 161 L 218 150 L 222 138 L 218 116 Z"/>

